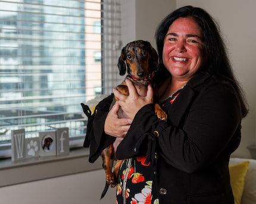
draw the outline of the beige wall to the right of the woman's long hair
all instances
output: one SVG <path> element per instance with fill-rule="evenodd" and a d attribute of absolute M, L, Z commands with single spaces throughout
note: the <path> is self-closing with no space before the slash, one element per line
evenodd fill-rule
<path fill-rule="evenodd" d="M 238 80 L 245 90 L 250 106 L 242 122 L 241 145 L 234 157 L 249 158 L 246 146 L 255 145 L 255 94 L 256 94 L 256 1 L 255 0 L 178 0 L 177 8 L 193 5 L 207 10 L 220 25 Z"/>

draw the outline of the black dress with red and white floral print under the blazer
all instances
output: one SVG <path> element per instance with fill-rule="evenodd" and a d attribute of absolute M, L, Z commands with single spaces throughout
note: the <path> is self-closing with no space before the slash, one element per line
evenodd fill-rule
<path fill-rule="evenodd" d="M 163 101 L 161 104 L 163 110 L 170 109 L 182 88 Z M 156 152 L 155 160 L 157 160 Z M 150 162 L 145 164 L 145 161 L 146 155 L 123 161 L 118 173 L 116 204 L 159 204 L 157 187 L 154 187 L 155 182 L 153 182 L 155 165 Z"/>

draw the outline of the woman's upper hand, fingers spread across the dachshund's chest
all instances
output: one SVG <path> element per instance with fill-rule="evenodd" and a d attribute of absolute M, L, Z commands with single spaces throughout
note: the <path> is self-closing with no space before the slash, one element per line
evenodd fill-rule
<path fill-rule="evenodd" d="M 116 89 L 114 89 L 114 95 L 119 98 L 118 103 L 120 104 L 124 113 L 126 113 L 130 119 L 133 119 L 139 109 L 141 109 L 146 104 L 154 103 L 153 88 L 151 84 L 149 84 L 146 96 L 141 96 L 138 94 L 130 79 L 126 79 L 126 85 L 129 90 L 129 95 L 121 94 Z"/>

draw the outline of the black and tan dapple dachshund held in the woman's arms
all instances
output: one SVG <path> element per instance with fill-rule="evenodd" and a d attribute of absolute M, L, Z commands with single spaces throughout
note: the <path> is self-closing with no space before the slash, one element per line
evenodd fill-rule
<path fill-rule="evenodd" d="M 154 73 L 158 68 L 158 55 L 149 42 L 136 40 L 123 47 L 117 66 L 119 69 L 119 74 L 124 75 L 127 72 L 128 75 L 126 78 L 129 78 L 133 82 L 139 95 L 145 96 L 148 90 L 148 85 L 153 82 Z M 122 94 L 129 95 L 129 90 L 125 81 L 123 81 L 116 88 Z M 117 97 L 114 97 L 113 104 L 115 101 L 118 101 Z M 155 104 L 155 113 L 159 119 L 167 119 L 166 113 L 157 103 Z M 118 110 L 117 114 L 119 118 L 127 118 L 126 114 L 123 112 L 123 110 L 121 110 L 121 108 Z M 101 152 L 103 162 L 102 165 L 106 174 L 106 186 L 102 192 L 101 198 L 105 196 L 108 186 L 114 187 L 117 184 L 117 174 L 123 161 L 117 160 L 116 164 L 114 165 L 113 172 L 112 167 L 113 161 L 116 160 L 115 149 L 117 148 L 118 144 L 120 144 L 122 139 L 123 138 L 116 138 L 113 144 L 107 146 L 107 148 Z"/>

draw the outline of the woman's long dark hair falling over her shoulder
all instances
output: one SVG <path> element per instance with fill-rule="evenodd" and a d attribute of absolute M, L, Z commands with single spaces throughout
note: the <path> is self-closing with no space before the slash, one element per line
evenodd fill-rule
<path fill-rule="evenodd" d="M 241 101 L 242 116 L 245 117 L 248 113 L 248 105 L 246 103 L 241 86 L 233 74 L 232 66 L 227 57 L 226 46 L 220 36 L 220 28 L 216 21 L 202 8 L 185 6 L 176 9 L 167 15 L 166 18 L 158 25 L 155 32 L 155 39 L 157 42 L 157 49 L 159 55 L 160 67 L 159 71 L 164 72 L 164 76 L 170 75 L 163 64 L 163 47 L 164 38 L 166 37 L 168 28 L 177 20 L 177 18 L 191 17 L 202 28 L 205 52 L 208 56 L 207 63 L 200 69 L 201 72 L 208 72 L 210 74 L 221 75 L 228 81 L 231 81 L 233 87 L 238 92 Z M 164 68 L 164 69 L 163 69 Z"/>

